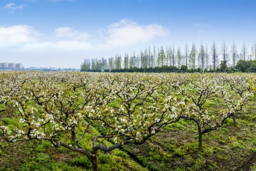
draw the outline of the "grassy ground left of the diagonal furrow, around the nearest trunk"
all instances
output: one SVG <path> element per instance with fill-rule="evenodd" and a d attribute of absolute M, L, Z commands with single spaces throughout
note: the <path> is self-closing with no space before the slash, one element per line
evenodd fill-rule
<path fill-rule="evenodd" d="M 10 125 L 17 120 L 12 117 L 12 110 L 0 114 L 0 119 Z M 93 134 L 99 134 L 95 128 Z M 87 137 L 82 145 L 91 145 L 93 136 Z M 109 142 L 110 143 L 110 142 Z M 101 171 L 147 171 L 147 168 L 130 158 L 124 151 L 116 149 L 110 154 L 98 153 Z M 87 171 L 91 163 L 87 157 L 67 148 L 52 147 L 48 141 L 33 140 L 9 143 L 0 137 L 0 171 Z"/>

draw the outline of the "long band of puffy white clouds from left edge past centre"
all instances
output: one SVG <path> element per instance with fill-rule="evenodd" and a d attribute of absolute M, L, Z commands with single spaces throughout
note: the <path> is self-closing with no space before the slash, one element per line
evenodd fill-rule
<path fill-rule="evenodd" d="M 40 41 L 39 35 L 47 39 L 36 31 L 32 26 L 17 25 L 0 27 L 0 43 L 20 45 L 20 48 L 40 49 L 63 49 L 65 50 L 88 50 L 99 48 L 116 48 L 136 45 L 137 43 L 147 43 L 155 37 L 169 34 L 168 30 L 158 24 L 139 25 L 133 21 L 122 19 L 119 22 L 108 25 L 103 31 L 103 38 L 92 37 L 85 31 L 76 31 L 71 27 L 59 27 L 54 30 L 55 41 Z M 90 41 L 93 39 L 93 42 Z"/>

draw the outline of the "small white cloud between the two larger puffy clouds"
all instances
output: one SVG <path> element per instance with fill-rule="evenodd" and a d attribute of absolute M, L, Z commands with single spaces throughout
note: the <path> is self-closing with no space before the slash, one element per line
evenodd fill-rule
<path fill-rule="evenodd" d="M 66 40 L 87 40 L 90 35 L 86 32 L 74 31 L 70 27 L 60 27 L 55 29 L 58 38 Z"/>

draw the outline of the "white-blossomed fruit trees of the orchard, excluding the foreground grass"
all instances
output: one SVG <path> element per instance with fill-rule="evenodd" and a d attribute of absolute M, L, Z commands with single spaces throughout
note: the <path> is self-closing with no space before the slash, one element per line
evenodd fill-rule
<path fill-rule="evenodd" d="M 47 140 L 87 156 L 98 170 L 97 151 L 109 152 L 128 143 L 143 144 L 164 125 L 180 119 L 198 126 L 202 135 L 242 114 L 256 94 L 255 74 L 102 74 L 1 72 L 0 112 L 16 111 L 17 125 L 0 120 L 0 136 L 8 142 Z M 218 98 L 212 111 L 207 100 Z M 91 149 L 80 142 L 92 125 Z M 104 141 L 113 140 L 111 146 Z"/>

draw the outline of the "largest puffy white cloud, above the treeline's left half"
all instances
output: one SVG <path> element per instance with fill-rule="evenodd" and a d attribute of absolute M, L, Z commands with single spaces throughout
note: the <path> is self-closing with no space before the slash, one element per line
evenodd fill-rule
<path fill-rule="evenodd" d="M 135 22 L 122 19 L 118 23 L 112 23 L 108 26 L 107 44 L 112 46 L 133 45 L 148 42 L 168 33 L 167 29 L 158 24 L 138 25 Z"/>

